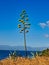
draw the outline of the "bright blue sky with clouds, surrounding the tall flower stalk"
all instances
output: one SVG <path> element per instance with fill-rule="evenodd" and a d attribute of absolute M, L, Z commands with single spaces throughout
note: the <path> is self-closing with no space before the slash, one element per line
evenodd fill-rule
<path fill-rule="evenodd" d="M 23 46 L 18 19 L 25 9 L 31 27 L 27 46 L 49 46 L 49 0 L 0 0 L 0 45 Z"/>

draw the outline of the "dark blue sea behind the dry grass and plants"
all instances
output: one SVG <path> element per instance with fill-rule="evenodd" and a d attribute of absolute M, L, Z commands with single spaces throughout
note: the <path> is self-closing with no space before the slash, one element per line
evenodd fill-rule
<path fill-rule="evenodd" d="M 22 50 L 21 51 L 15 50 L 15 51 L 16 51 L 16 56 L 25 57 L 25 51 Z M 13 53 L 14 50 L 0 50 L 0 60 L 8 58 L 11 52 Z M 27 51 L 27 56 L 32 58 L 34 57 L 36 52 L 41 53 L 41 51 Z"/>

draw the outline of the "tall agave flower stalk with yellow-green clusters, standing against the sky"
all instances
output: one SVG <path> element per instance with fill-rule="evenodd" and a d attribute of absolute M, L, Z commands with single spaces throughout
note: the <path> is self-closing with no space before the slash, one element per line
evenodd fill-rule
<path fill-rule="evenodd" d="M 22 13 L 20 14 L 20 19 L 19 22 L 21 24 L 18 24 L 18 28 L 20 28 L 20 33 L 23 32 L 24 34 L 24 48 L 25 48 L 25 54 L 27 57 L 27 46 L 26 46 L 26 33 L 29 32 L 28 29 L 30 28 L 30 24 L 28 23 L 29 19 L 28 19 L 28 15 L 26 13 L 25 10 L 22 11 Z"/>

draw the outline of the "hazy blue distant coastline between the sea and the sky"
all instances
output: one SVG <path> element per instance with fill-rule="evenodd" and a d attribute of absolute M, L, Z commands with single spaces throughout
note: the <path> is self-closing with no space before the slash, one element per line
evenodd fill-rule
<path fill-rule="evenodd" d="M 27 47 L 28 51 L 42 51 L 49 47 Z M 0 45 L 0 50 L 23 50 L 24 46 L 8 46 L 8 45 Z"/>

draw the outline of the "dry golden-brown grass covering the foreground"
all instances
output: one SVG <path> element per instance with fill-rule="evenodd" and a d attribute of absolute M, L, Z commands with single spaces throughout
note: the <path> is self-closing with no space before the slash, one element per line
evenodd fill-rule
<path fill-rule="evenodd" d="M 14 59 L 3 59 L 0 61 L 0 65 L 49 65 L 49 57 L 36 57 L 36 58 L 22 58 L 17 57 Z"/>

